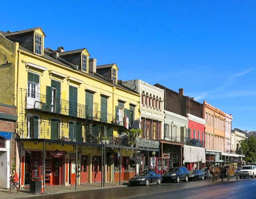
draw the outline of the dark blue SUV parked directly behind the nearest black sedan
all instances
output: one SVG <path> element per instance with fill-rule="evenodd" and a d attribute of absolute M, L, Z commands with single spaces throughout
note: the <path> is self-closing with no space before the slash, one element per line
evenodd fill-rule
<path fill-rule="evenodd" d="M 162 174 L 164 182 L 180 182 L 180 180 L 188 181 L 188 169 L 186 167 L 172 167 Z"/>

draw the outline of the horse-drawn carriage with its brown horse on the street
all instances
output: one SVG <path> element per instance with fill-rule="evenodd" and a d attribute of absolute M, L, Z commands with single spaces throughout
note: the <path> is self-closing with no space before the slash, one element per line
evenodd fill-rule
<path fill-rule="evenodd" d="M 238 180 L 238 173 L 236 172 L 236 163 L 225 166 L 225 167 L 214 167 L 211 169 L 211 177 L 210 181 L 216 182 L 218 181 L 218 178 L 220 177 L 221 180 L 224 178 L 227 178 L 229 181 L 229 178 L 236 178 Z"/>

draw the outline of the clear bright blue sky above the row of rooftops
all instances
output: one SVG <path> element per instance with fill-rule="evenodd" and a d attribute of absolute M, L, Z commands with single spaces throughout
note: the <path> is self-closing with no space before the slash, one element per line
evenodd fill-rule
<path fill-rule="evenodd" d="M 206 100 L 253 131 L 255 1 L 5 1 L 0 30 L 42 27 L 45 47 L 87 48 L 118 79 Z"/>

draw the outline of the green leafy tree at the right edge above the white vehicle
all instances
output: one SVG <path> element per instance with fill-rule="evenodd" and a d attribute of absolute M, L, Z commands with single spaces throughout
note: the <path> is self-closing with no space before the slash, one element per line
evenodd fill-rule
<path fill-rule="evenodd" d="M 256 161 L 256 138 L 249 137 L 241 141 L 241 149 L 244 151 L 244 160 L 252 163 Z"/>

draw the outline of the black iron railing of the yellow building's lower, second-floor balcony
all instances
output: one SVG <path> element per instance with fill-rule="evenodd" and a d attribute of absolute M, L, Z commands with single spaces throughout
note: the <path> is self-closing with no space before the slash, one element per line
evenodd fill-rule
<path fill-rule="evenodd" d="M 132 143 L 127 135 L 117 136 L 113 132 L 105 133 L 104 130 L 86 128 L 81 123 L 76 126 L 60 123 L 59 120 L 50 122 L 18 122 L 18 135 L 20 139 L 51 139 L 73 142 L 91 142 L 109 145 L 137 146 L 158 149 L 159 141 L 137 138 Z"/>

